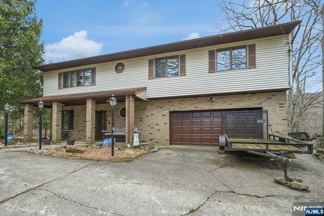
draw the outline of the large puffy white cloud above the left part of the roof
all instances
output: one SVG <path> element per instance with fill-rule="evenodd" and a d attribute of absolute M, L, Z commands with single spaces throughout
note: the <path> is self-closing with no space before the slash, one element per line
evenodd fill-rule
<path fill-rule="evenodd" d="M 73 35 L 63 38 L 61 41 L 45 46 L 47 61 L 76 59 L 99 55 L 102 43 L 91 41 L 87 37 L 88 31 L 76 31 Z"/>

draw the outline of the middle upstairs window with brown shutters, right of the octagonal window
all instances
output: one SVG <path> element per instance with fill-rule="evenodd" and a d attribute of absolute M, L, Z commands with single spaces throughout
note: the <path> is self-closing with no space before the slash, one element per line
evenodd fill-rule
<path fill-rule="evenodd" d="M 148 79 L 186 75 L 186 55 L 167 56 L 148 60 Z"/>

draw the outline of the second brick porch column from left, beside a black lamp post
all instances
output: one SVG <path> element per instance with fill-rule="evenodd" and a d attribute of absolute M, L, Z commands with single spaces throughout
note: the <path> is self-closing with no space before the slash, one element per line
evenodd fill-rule
<path fill-rule="evenodd" d="M 52 103 L 52 142 L 61 142 L 62 103 Z"/>

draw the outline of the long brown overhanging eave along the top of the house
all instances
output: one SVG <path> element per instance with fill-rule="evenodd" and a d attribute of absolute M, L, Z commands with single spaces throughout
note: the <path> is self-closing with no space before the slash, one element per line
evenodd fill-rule
<path fill-rule="evenodd" d="M 57 69 L 70 68 L 76 66 L 84 66 L 84 65 L 97 64 L 103 62 L 118 61 L 122 59 L 129 59 L 129 58 L 149 56 L 149 55 L 155 55 L 161 53 L 207 47 L 207 46 L 213 46 L 218 44 L 226 44 L 226 43 L 245 41 L 245 40 L 257 39 L 257 38 L 272 37 L 275 35 L 289 34 L 295 29 L 297 25 L 300 25 L 300 23 L 301 21 L 295 21 L 295 22 L 289 22 L 284 24 L 265 26 L 261 28 L 254 28 L 254 29 L 248 29 L 243 31 L 212 35 L 208 37 L 175 42 L 170 44 L 140 48 L 135 50 L 123 51 L 123 52 L 116 52 L 111 54 L 93 56 L 93 57 L 82 58 L 82 59 L 75 59 L 70 61 L 45 64 L 40 66 L 34 66 L 33 68 L 45 72 L 50 70 L 57 70 Z"/>

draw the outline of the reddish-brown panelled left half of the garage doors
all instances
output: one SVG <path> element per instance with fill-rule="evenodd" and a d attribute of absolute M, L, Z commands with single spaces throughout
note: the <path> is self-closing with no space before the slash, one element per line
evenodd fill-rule
<path fill-rule="evenodd" d="M 224 133 L 222 112 L 174 112 L 170 129 L 171 145 L 218 146 Z"/>

